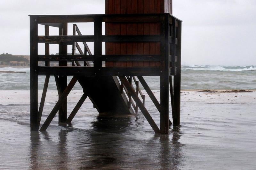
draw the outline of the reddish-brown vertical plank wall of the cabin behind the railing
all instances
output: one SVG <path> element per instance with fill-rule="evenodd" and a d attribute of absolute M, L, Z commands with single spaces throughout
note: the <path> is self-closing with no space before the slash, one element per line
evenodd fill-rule
<path fill-rule="evenodd" d="M 172 0 L 105 0 L 106 14 L 172 13 Z M 106 35 L 159 35 L 160 23 L 106 23 Z M 160 55 L 159 42 L 106 43 L 106 55 Z M 160 66 L 159 62 L 106 62 L 106 67 Z"/>

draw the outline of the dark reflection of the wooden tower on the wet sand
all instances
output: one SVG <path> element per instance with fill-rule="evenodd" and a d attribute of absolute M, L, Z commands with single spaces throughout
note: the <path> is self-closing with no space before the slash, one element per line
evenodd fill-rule
<path fill-rule="evenodd" d="M 147 134 L 133 129 L 140 121 L 98 116 L 92 130 L 31 132 L 30 169 L 179 169 L 180 127 L 171 129 L 170 135 Z"/>

